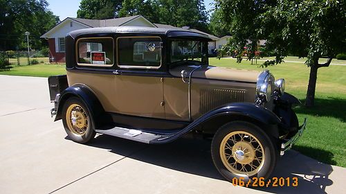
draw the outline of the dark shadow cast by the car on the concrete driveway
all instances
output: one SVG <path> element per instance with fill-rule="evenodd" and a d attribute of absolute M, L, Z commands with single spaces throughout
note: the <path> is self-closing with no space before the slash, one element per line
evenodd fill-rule
<path fill-rule="evenodd" d="M 100 135 L 88 145 L 183 173 L 225 180 L 219 175 L 212 162 L 210 141 L 181 138 L 163 145 L 148 145 L 113 136 Z M 326 152 L 324 150 L 316 151 Z M 279 159 L 272 177 L 298 177 L 298 187 L 269 186 L 268 188 L 252 187 L 249 189 L 270 193 L 293 193 L 297 191 L 299 193 L 325 193 L 325 188 L 333 184 L 333 181 L 329 179 L 332 171 L 331 166 L 328 164 L 322 164 L 301 155 L 295 150 L 289 150 Z"/>

